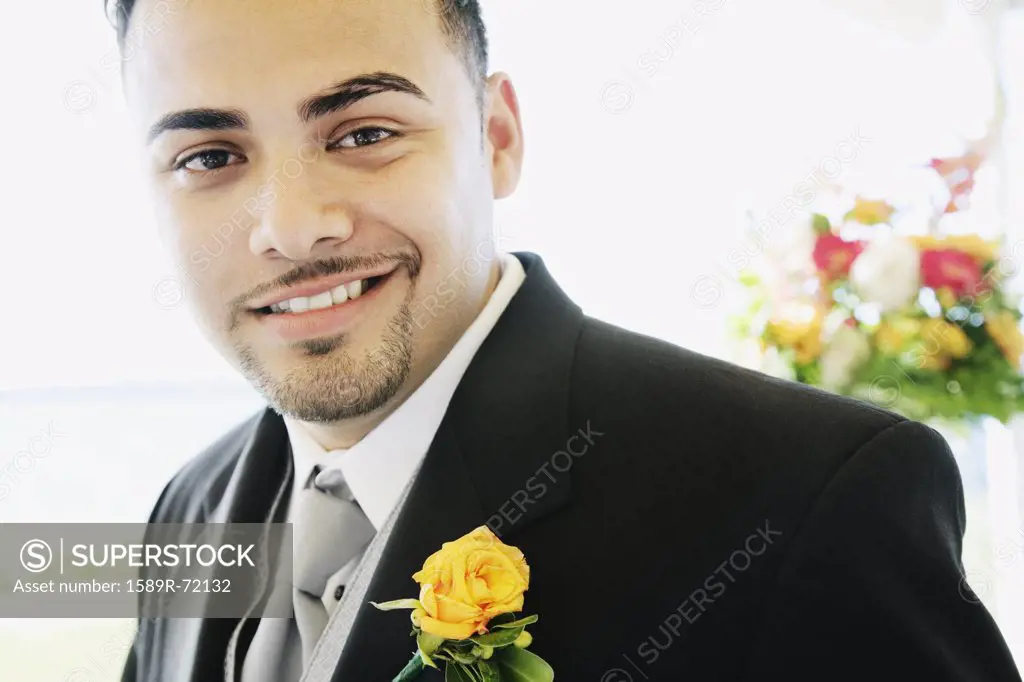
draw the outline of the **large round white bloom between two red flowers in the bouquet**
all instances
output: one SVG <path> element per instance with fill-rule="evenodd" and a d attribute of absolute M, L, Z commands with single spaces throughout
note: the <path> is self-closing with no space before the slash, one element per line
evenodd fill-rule
<path fill-rule="evenodd" d="M 910 303 L 921 289 L 921 254 L 909 240 L 871 242 L 853 261 L 850 282 L 861 300 L 896 310 Z"/>

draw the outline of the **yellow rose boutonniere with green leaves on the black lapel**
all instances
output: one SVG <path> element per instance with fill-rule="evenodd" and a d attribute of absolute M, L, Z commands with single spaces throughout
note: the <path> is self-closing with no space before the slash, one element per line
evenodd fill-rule
<path fill-rule="evenodd" d="M 445 682 L 551 682 L 555 674 L 527 651 L 526 626 L 516 617 L 529 587 L 529 565 L 517 548 L 481 525 L 444 543 L 413 574 L 419 599 L 373 603 L 381 610 L 413 610 L 417 652 L 394 682 L 415 679 L 426 666 L 444 664 Z"/>

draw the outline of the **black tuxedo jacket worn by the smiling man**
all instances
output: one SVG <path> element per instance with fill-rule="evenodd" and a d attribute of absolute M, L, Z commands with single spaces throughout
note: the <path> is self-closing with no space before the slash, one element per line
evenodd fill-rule
<path fill-rule="evenodd" d="M 415 596 L 423 560 L 487 523 L 526 555 L 532 650 L 557 680 L 1021 680 L 962 581 L 961 478 L 934 430 L 588 317 L 516 256 L 526 280 L 369 600 Z M 289 457 L 265 410 L 185 466 L 151 521 L 203 520 L 245 460 L 230 520 L 261 522 Z M 204 622 L 182 652 L 193 682 L 222 679 L 234 625 Z M 140 623 L 125 682 L 161 679 L 162 632 Z M 406 616 L 366 604 L 334 680 L 390 681 L 413 650 Z"/>

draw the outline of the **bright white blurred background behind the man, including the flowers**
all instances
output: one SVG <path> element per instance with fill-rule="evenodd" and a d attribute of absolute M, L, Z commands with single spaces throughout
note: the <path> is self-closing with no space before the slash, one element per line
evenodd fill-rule
<path fill-rule="evenodd" d="M 100 4 L 16 3 L 0 25 L 0 522 L 143 521 L 260 407 L 181 304 Z M 968 502 L 963 594 L 1024 668 L 1024 2 L 484 6 L 526 135 L 506 248 L 543 255 L 591 315 L 940 428 Z M 4 679 L 98 682 L 132 624 L 0 635 Z"/>

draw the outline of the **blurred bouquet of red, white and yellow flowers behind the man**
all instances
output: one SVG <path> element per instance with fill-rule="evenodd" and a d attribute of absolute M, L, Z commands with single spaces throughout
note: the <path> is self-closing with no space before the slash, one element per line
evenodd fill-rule
<path fill-rule="evenodd" d="M 1021 312 L 1008 288 L 1017 262 L 978 235 L 935 235 L 967 207 L 980 163 L 972 152 L 930 164 L 948 190 L 932 233 L 902 235 L 900 210 L 858 196 L 810 214 L 806 267 L 744 272 L 753 298 L 736 331 L 759 342 L 761 369 L 916 420 L 1006 423 L 1024 410 Z"/>

